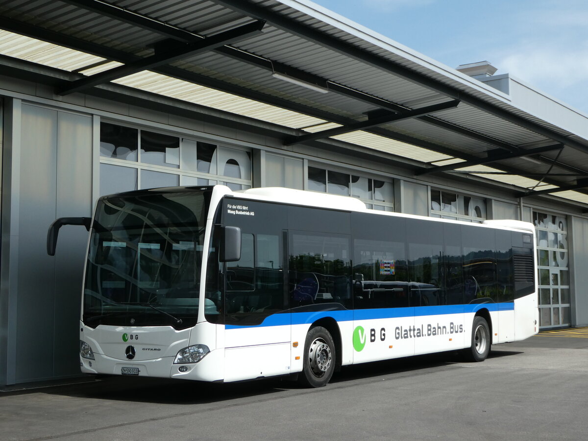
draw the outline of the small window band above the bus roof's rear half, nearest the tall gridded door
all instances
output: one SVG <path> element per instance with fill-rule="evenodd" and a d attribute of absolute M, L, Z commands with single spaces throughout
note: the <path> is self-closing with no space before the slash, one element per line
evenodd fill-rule
<path fill-rule="evenodd" d="M 466 222 L 483 222 L 486 220 L 486 200 L 432 189 L 431 216 Z"/>

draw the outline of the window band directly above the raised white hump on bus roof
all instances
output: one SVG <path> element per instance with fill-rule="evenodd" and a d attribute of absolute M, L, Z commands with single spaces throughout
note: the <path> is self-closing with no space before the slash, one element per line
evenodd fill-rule
<path fill-rule="evenodd" d="M 308 189 L 332 195 L 352 196 L 360 199 L 368 208 L 394 211 L 392 182 L 309 166 Z"/>

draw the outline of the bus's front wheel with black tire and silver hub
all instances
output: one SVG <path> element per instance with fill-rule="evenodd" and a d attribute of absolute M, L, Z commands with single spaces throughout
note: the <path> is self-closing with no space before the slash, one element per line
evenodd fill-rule
<path fill-rule="evenodd" d="M 306 334 L 304 360 L 298 382 L 305 387 L 323 387 L 335 371 L 335 342 L 330 332 L 316 326 Z"/>

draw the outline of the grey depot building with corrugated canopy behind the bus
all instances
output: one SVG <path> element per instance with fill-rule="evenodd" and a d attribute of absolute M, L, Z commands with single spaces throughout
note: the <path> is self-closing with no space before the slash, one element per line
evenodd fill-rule
<path fill-rule="evenodd" d="M 0 384 L 79 376 L 109 193 L 283 186 L 537 230 L 540 328 L 588 325 L 588 116 L 305 0 L 0 4 Z"/>

